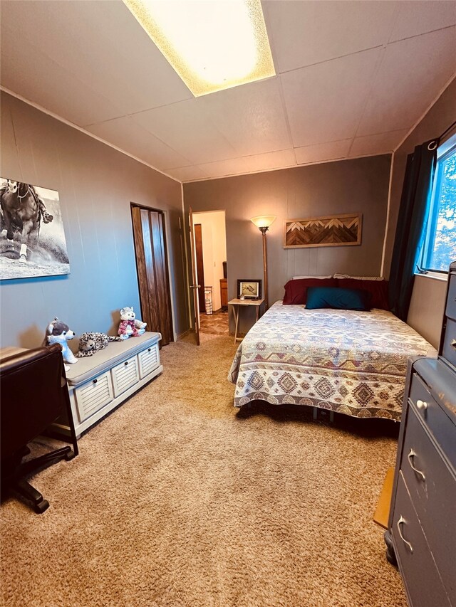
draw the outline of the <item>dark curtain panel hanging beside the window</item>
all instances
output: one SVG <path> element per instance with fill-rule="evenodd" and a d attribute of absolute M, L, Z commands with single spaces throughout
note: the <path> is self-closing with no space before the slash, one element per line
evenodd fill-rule
<path fill-rule="evenodd" d="M 438 141 L 432 139 L 417 145 L 413 154 L 407 157 L 389 286 L 390 309 L 404 321 L 407 320 L 415 266 L 427 223 L 437 144 Z"/>

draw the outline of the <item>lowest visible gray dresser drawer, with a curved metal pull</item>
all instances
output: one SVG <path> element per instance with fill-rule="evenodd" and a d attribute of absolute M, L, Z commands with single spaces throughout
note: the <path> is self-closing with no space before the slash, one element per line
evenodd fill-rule
<path fill-rule="evenodd" d="M 451 603 L 401 474 L 391 532 L 410 604 L 413 607 L 450 607 Z"/>

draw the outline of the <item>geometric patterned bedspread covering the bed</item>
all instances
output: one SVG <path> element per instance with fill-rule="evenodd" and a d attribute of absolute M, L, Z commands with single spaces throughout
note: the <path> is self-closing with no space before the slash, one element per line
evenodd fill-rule
<path fill-rule="evenodd" d="M 411 356 L 437 352 L 391 312 L 276 302 L 239 345 L 228 379 L 237 407 L 262 400 L 400 420 Z"/>

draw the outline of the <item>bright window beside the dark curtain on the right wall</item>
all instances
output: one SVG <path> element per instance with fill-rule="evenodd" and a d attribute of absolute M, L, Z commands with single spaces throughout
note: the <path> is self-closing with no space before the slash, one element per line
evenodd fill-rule
<path fill-rule="evenodd" d="M 439 148 L 429 219 L 420 259 L 422 271 L 447 272 L 456 260 L 456 137 Z"/>

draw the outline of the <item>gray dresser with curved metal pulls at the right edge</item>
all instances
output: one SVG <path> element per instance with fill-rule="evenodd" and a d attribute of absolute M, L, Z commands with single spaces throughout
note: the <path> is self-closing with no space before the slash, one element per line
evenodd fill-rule
<path fill-rule="evenodd" d="M 385 542 L 410 606 L 456 607 L 456 263 L 439 357 L 408 365 Z"/>

